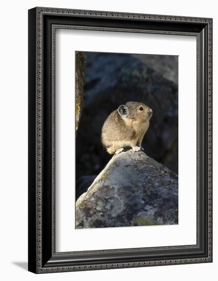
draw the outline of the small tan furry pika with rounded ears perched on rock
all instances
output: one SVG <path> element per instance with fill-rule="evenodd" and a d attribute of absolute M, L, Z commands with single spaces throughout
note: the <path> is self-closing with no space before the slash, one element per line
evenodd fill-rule
<path fill-rule="evenodd" d="M 106 119 L 101 141 L 109 154 L 118 154 L 124 148 L 143 150 L 142 139 L 148 130 L 152 109 L 139 102 L 120 105 Z"/>

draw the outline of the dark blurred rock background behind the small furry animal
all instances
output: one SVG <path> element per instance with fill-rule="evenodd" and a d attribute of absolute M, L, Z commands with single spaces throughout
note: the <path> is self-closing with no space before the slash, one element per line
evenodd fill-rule
<path fill-rule="evenodd" d="M 128 101 L 152 108 L 142 146 L 148 156 L 178 174 L 178 56 L 86 52 L 76 137 L 77 198 L 111 159 L 101 144 L 101 128 L 107 116 Z"/>

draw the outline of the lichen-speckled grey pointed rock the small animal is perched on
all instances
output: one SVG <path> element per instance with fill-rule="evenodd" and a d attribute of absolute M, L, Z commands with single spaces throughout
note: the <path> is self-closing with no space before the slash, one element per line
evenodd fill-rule
<path fill-rule="evenodd" d="M 114 155 L 76 202 L 76 228 L 178 224 L 178 176 L 132 149 Z"/>

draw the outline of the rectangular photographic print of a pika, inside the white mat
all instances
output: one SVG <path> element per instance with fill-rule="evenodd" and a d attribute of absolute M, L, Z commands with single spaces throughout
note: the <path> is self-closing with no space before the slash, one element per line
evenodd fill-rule
<path fill-rule="evenodd" d="M 76 229 L 178 224 L 178 56 L 75 61 Z"/>

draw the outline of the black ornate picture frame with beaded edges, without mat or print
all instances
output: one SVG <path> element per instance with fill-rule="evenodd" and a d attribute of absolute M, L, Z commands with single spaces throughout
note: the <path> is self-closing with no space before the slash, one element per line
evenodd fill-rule
<path fill-rule="evenodd" d="M 197 244 L 55 251 L 55 30 L 172 34 L 197 38 Z M 212 19 L 120 12 L 29 10 L 29 271 L 212 262 Z"/>

